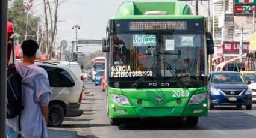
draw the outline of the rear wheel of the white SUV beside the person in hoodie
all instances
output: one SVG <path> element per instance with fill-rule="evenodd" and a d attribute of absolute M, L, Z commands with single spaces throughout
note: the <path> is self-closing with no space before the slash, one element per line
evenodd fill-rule
<path fill-rule="evenodd" d="M 49 107 L 47 123 L 49 126 L 57 127 L 63 122 L 64 116 L 63 108 L 58 104 L 54 104 Z"/>

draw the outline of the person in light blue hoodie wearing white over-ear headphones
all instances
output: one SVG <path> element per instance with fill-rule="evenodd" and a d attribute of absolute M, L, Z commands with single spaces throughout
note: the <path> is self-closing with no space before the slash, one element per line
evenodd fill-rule
<path fill-rule="evenodd" d="M 41 55 L 39 45 L 34 40 L 25 40 L 21 45 L 19 56 L 23 62 L 16 63 L 16 70 L 22 76 L 22 110 L 20 116 L 21 131 L 19 131 L 19 116 L 7 119 L 7 137 L 48 137 L 47 116 L 51 97 L 48 74 L 35 65 L 34 60 Z"/>

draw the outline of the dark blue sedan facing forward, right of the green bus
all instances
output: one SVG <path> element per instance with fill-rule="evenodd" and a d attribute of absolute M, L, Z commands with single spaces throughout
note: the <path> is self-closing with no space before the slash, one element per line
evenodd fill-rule
<path fill-rule="evenodd" d="M 208 79 L 209 109 L 215 105 L 244 105 L 247 110 L 252 109 L 252 91 L 247 85 L 251 82 L 246 82 L 239 72 L 211 72 Z"/>

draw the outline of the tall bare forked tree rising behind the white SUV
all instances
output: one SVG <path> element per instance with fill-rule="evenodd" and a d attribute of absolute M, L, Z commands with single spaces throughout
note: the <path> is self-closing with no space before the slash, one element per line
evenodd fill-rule
<path fill-rule="evenodd" d="M 58 6 L 67 0 L 43 0 L 45 14 L 45 45 L 48 57 L 54 53 L 55 38 L 57 34 Z M 48 26 L 49 23 L 49 26 Z"/>

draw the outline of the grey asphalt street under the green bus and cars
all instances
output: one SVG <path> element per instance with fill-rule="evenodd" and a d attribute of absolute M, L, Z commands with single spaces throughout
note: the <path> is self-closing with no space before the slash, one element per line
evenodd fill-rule
<path fill-rule="evenodd" d="M 83 95 L 80 117 L 66 118 L 60 127 L 49 127 L 51 136 L 63 137 L 256 137 L 256 104 L 252 110 L 236 109 L 236 106 L 216 106 L 208 116 L 199 118 L 196 127 L 186 125 L 184 119 L 146 120 L 139 124 L 111 126 L 107 117 L 105 92 L 101 85 L 86 82 L 86 91 L 93 96 Z M 58 131 L 57 131 L 58 130 Z M 54 133 L 56 131 L 56 133 Z M 77 134 L 77 136 L 74 135 Z"/>

